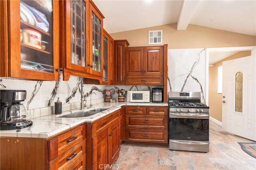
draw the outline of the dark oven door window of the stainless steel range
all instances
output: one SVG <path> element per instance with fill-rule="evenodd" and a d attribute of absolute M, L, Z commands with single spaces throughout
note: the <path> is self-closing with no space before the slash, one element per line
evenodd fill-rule
<path fill-rule="evenodd" d="M 209 119 L 170 118 L 170 139 L 209 141 Z"/>

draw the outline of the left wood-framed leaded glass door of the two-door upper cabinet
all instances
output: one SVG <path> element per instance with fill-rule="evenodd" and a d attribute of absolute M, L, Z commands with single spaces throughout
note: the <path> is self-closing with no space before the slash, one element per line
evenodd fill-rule
<path fill-rule="evenodd" d="M 65 6 L 65 20 L 62 20 L 62 25 L 66 27 L 66 29 L 62 29 L 62 32 L 65 32 L 63 37 L 66 38 L 66 43 L 65 40 L 61 42 L 61 45 L 66 45 L 65 49 L 62 50 L 64 51 L 62 57 L 66 55 L 66 59 L 62 59 L 60 63 L 65 63 L 65 66 L 64 64 L 61 64 L 61 66 L 89 73 L 88 0 L 65 0 L 60 3 L 61 7 L 62 3 Z"/>

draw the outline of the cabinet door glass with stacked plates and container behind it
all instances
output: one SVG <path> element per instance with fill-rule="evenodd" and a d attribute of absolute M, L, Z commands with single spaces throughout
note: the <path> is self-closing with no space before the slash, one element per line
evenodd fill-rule
<path fill-rule="evenodd" d="M 21 68 L 53 73 L 53 2 L 20 1 Z"/>

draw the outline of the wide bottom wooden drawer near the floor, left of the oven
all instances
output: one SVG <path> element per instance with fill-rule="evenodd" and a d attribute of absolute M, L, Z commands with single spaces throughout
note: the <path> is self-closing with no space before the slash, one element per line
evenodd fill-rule
<path fill-rule="evenodd" d="M 134 142 L 167 143 L 167 129 L 126 129 L 126 140 Z"/>

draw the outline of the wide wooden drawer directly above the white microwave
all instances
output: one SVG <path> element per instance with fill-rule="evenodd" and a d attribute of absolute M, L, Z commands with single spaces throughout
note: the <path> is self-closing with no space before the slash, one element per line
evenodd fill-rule
<path fill-rule="evenodd" d="M 162 85 L 163 76 L 125 76 L 125 85 Z"/>

